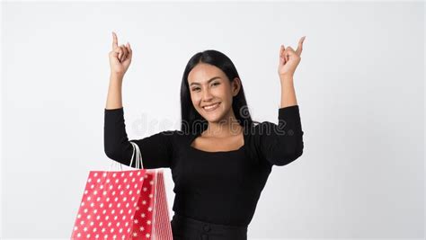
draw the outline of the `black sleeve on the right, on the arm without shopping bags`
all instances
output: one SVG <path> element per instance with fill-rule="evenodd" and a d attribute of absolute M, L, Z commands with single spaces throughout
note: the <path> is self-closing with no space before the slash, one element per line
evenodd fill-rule
<path fill-rule="evenodd" d="M 254 127 L 258 156 L 270 165 L 286 165 L 303 154 L 303 130 L 298 105 L 279 109 L 278 125 L 263 121 Z"/>

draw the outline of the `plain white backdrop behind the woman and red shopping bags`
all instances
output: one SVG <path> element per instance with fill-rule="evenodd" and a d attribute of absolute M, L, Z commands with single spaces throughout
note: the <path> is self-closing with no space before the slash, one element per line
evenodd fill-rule
<path fill-rule="evenodd" d="M 71 236 L 90 170 L 108 170 L 111 31 L 134 57 L 130 139 L 178 129 L 183 69 L 217 49 L 254 120 L 277 122 L 280 44 L 306 36 L 295 74 L 304 154 L 274 166 L 250 239 L 424 236 L 424 5 L 3 3 L 3 239 Z M 173 127 L 141 122 L 173 122 Z M 142 127 L 141 127 L 142 126 Z M 164 169 L 171 216 L 173 181 Z"/>

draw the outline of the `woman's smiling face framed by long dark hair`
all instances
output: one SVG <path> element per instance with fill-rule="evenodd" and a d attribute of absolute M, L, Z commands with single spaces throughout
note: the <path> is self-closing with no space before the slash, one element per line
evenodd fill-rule
<path fill-rule="evenodd" d="M 205 120 L 219 122 L 229 117 L 235 118 L 232 99 L 240 89 L 238 78 L 235 77 L 231 83 L 220 68 L 200 63 L 192 68 L 188 84 L 192 104 Z"/>

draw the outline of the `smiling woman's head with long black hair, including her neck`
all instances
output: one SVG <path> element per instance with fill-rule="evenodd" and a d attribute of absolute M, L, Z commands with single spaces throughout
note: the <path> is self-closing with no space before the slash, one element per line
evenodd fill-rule
<path fill-rule="evenodd" d="M 238 72 L 231 59 L 217 50 L 190 59 L 182 77 L 181 102 L 182 131 L 205 130 L 203 137 L 224 138 L 232 135 L 229 129 L 253 124 L 250 112 L 242 111 L 247 102 Z"/>

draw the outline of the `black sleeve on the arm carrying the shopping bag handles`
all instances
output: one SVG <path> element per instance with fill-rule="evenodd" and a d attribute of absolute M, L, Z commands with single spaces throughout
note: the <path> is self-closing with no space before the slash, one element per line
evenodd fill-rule
<path fill-rule="evenodd" d="M 175 132 L 166 130 L 146 138 L 130 140 L 138 144 L 144 169 L 171 166 Z M 133 146 L 130 141 L 126 133 L 123 108 L 105 109 L 103 145 L 106 156 L 121 164 L 129 165 L 133 155 Z M 131 167 L 136 168 L 136 156 Z"/>

